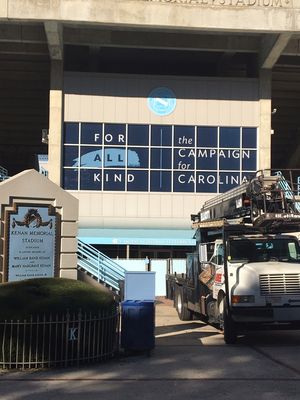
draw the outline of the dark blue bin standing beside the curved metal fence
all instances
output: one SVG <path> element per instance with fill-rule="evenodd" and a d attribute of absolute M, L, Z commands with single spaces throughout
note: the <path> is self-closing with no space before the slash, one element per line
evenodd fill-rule
<path fill-rule="evenodd" d="M 126 300 L 121 303 L 121 347 L 150 351 L 155 345 L 154 301 Z"/>

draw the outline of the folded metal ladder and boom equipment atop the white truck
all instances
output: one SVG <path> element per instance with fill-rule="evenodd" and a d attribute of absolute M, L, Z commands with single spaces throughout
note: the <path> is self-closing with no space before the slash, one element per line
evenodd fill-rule
<path fill-rule="evenodd" d="M 261 170 L 240 186 L 206 201 L 193 228 L 245 224 L 268 232 L 300 229 L 299 183 L 293 170 Z M 223 222 L 222 222 L 223 221 Z"/>

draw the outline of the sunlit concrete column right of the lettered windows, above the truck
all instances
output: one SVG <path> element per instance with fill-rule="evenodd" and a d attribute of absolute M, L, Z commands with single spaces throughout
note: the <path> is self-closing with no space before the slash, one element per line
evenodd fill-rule
<path fill-rule="evenodd" d="M 261 69 L 259 74 L 259 169 L 271 168 L 271 69 Z"/>

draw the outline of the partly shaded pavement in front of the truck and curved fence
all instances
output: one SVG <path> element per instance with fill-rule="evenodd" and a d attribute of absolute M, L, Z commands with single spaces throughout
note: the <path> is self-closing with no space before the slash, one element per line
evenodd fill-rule
<path fill-rule="evenodd" d="M 299 332 L 252 334 L 237 345 L 158 299 L 156 347 L 81 368 L 5 372 L 1 400 L 299 399 Z"/>

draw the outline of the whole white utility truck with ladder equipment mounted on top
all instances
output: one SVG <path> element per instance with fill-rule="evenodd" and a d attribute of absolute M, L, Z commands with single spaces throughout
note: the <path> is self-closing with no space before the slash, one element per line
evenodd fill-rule
<path fill-rule="evenodd" d="M 258 171 L 191 216 L 196 251 L 166 276 L 181 320 L 199 318 L 235 343 L 250 329 L 300 329 L 300 198 L 295 171 Z M 297 182 L 297 181 L 296 181 Z"/>

